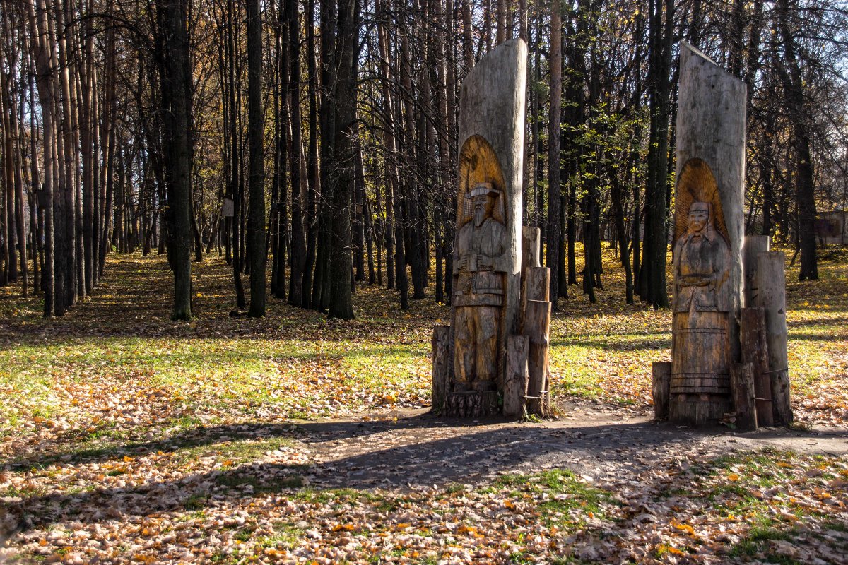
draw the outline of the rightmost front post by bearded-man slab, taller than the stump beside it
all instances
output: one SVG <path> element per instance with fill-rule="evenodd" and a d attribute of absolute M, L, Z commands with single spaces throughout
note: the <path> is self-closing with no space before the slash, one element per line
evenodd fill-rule
<path fill-rule="evenodd" d="M 527 414 L 545 417 L 545 398 L 549 393 L 548 362 L 550 344 L 550 302 L 527 301 L 527 315 L 524 319 L 524 335 L 530 338 L 527 356 Z"/>

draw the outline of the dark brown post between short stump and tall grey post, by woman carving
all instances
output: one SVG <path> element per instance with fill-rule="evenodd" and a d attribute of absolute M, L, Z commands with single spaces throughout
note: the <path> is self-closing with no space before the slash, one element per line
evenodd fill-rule
<path fill-rule="evenodd" d="M 739 319 L 742 363 L 751 363 L 754 367 L 756 422 L 760 426 L 773 426 L 772 384 L 768 374 L 766 313 L 759 307 L 742 308 Z"/>

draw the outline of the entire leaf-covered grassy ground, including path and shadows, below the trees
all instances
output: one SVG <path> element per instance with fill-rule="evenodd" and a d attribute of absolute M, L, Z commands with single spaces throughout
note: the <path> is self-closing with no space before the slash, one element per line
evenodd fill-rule
<path fill-rule="evenodd" d="M 746 434 L 651 420 L 670 313 L 611 255 L 537 423 L 428 413 L 432 299 L 232 318 L 231 271 L 193 269 L 190 323 L 159 257 L 61 319 L 0 289 L 0 562 L 848 563 L 848 253 L 788 267 L 796 425 Z"/>

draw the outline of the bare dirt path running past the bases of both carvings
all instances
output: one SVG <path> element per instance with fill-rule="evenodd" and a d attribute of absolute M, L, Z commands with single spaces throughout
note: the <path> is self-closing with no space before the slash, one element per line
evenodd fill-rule
<path fill-rule="evenodd" d="M 476 484 L 506 472 L 554 467 L 610 483 L 674 457 L 688 465 L 766 448 L 848 455 L 848 429 L 735 433 L 723 427 L 656 423 L 645 415 L 618 416 L 603 406 L 569 406 L 564 413 L 561 419 L 538 424 L 499 419 L 466 423 L 409 410 L 298 428 L 315 461 L 310 482 L 320 487 Z"/>

